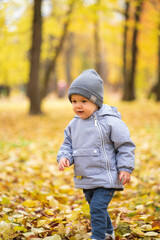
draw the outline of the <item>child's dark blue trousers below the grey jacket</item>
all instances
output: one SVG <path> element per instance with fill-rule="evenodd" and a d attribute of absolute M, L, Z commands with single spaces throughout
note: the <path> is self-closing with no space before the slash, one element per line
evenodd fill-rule
<path fill-rule="evenodd" d="M 113 226 L 107 207 L 113 197 L 114 189 L 84 189 L 85 198 L 90 205 L 92 239 L 105 240 L 105 234 L 113 233 Z"/>

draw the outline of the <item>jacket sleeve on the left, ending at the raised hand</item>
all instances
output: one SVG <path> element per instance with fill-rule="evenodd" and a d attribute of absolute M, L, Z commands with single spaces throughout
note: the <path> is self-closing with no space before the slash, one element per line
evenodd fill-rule
<path fill-rule="evenodd" d="M 72 157 L 72 140 L 71 140 L 70 128 L 67 127 L 64 131 L 64 142 L 60 147 L 57 154 L 57 162 L 59 163 L 61 158 L 67 158 L 70 161 L 70 165 L 73 164 Z"/>

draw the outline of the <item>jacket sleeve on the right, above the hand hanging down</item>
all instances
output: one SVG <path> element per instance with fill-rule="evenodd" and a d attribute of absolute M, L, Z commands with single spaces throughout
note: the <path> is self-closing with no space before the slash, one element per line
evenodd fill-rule
<path fill-rule="evenodd" d="M 128 127 L 118 118 L 113 118 L 111 122 L 111 141 L 116 151 L 117 170 L 132 173 L 135 144 L 130 139 Z"/>

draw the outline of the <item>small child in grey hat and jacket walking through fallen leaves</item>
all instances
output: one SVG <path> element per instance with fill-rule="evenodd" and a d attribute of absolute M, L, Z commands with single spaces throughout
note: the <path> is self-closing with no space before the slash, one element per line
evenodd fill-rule
<path fill-rule="evenodd" d="M 114 239 L 107 207 L 114 191 L 130 182 L 135 145 L 117 109 L 103 105 L 103 81 L 96 71 L 79 75 L 68 97 L 76 115 L 64 132 L 59 170 L 74 164 L 75 187 L 83 189 L 90 205 L 91 239 Z"/>

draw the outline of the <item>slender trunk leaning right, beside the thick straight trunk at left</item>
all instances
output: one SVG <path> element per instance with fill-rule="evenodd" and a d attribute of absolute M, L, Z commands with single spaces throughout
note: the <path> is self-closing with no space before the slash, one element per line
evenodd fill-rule
<path fill-rule="evenodd" d="M 55 55 L 54 55 L 53 59 L 49 62 L 48 66 L 46 68 L 46 72 L 45 72 L 45 76 L 44 76 L 44 86 L 43 86 L 42 94 L 41 94 L 42 98 L 44 98 L 47 94 L 48 82 L 49 82 L 51 73 L 55 69 L 57 58 L 58 58 L 58 56 L 59 56 L 59 54 L 60 54 L 60 52 L 63 48 L 64 41 L 65 41 L 66 35 L 68 33 L 68 26 L 69 26 L 69 23 L 70 23 L 70 15 L 71 15 L 72 10 L 73 10 L 73 4 L 74 4 L 74 0 L 71 2 L 69 10 L 67 12 L 67 19 L 66 19 L 66 22 L 64 23 L 61 38 L 60 38 L 59 43 L 58 43 L 58 45 L 55 49 Z"/>

